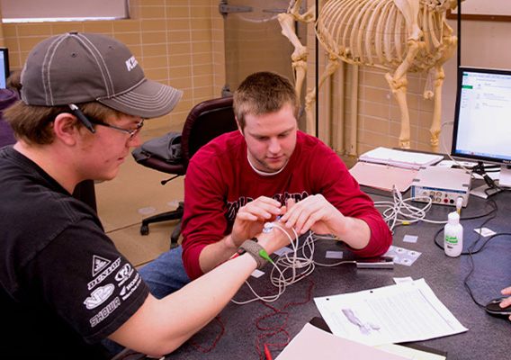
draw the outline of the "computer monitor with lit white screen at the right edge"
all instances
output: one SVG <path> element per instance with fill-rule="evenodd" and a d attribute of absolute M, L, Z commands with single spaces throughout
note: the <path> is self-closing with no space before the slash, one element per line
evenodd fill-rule
<path fill-rule="evenodd" d="M 500 166 L 498 186 L 511 187 L 511 70 L 458 71 L 451 155 Z"/>

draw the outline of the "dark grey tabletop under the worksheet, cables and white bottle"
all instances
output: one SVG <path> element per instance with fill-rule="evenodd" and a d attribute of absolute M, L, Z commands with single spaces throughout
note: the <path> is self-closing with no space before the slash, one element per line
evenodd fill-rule
<path fill-rule="evenodd" d="M 375 202 L 388 201 L 389 197 L 371 194 Z M 404 198 L 409 193 L 405 193 Z M 511 193 L 498 193 L 485 200 L 470 197 L 469 205 L 462 209 L 464 229 L 463 252 L 471 246 L 478 234 L 473 229 L 481 227 L 491 211 L 491 202 L 498 206 L 496 217 L 485 227 L 497 233 L 511 232 Z M 424 204 L 414 202 L 420 207 Z M 434 205 L 427 212 L 426 219 L 446 220 L 453 211 L 451 206 Z M 470 218 L 476 218 L 471 219 Z M 418 345 L 432 347 L 447 352 L 447 358 L 455 359 L 503 359 L 511 351 L 511 322 L 505 318 L 490 316 L 483 307 L 477 305 L 465 288 L 464 280 L 471 272 L 471 258 L 468 255 L 451 258 L 435 245 L 442 242 L 442 224 L 420 221 L 411 225 L 394 228 L 392 245 L 421 252 L 412 266 L 395 265 L 394 269 L 357 269 L 353 264 L 323 267 L 317 266 L 313 274 L 297 284 L 288 286 L 277 302 L 264 304 L 251 302 L 238 305 L 230 302 L 221 311 L 220 320 L 212 320 L 209 325 L 195 334 L 166 359 L 257 359 L 264 358 L 264 343 L 285 344 L 287 335 L 293 338 L 300 329 L 314 317 L 320 317 L 314 297 L 354 293 L 378 288 L 394 283 L 394 277 L 410 276 L 414 280 L 424 278 L 435 295 L 469 331 L 444 338 L 417 342 Z M 417 236 L 417 243 L 404 242 L 405 235 Z M 483 238 L 483 240 L 486 238 Z M 481 240 L 480 242 L 482 242 Z M 343 250 L 338 242 L 318 240 L 314 259 L 325 263 L 327 250 Z M 344 251 L 344 257 L 352 254 Z M 511 238 L 503 235 L 491 238 L 483 250 L 473 255 L 475 265 L 469 284 L 477 302 L 486 304 L 500 296 L 500 290 L 511 286 Z M 337 260 L 338 261 L 338 260 Z M 336 262 L 330 260 L 330 262 Z M 251 277 L 249 284 L 259 294 L 271 292 L 268 274 Z M 251 299 L 247 285 L 235 296 L 237 300 Z M 261 329 L 258 329 L 261 328 Z M 223 332 L 223 333 L 222 333 Z M 276 333 L 275 335 L 273 335 Z M 257 345 L 263 352 L 260 356 Z M 273 358 L 283 347 L 270 347 Z M 342 349 L 339 350 L 342 352 Z"/>

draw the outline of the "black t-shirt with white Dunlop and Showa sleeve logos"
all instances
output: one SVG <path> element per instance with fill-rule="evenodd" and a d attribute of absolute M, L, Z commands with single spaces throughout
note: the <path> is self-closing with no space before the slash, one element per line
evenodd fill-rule
<path fill-rule="evenodd" d="M 12 147 L 0 148 L 0 231 L 0 354 L 107 356 L 100 340 L 139 309 L 148 286 L 95 211 Z"/>

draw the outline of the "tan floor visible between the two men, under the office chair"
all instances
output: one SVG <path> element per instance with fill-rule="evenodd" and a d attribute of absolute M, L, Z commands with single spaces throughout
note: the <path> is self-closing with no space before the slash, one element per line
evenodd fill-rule
<path fill-rule="evenodd" d="M 144 129 L 142 141 L 164 135 L 167 131 Z M 354 165 L 353 157 L 342 157 L 346 166 Z M 162 185 L 171 176 L 141 166 L 126 157 L 119 175 L 112 181 L 96 183 L 97 211 L 103 227 L 116 247 L 136 267 L 143 266 L 170 248 L 170 234 L 177 220 L 149 225 L 149 233 L 140 235 L 142 219 L 174 210 L 184 198 L 184 176 Z M 181 239 L 180 239 L 181 241 Z"/>

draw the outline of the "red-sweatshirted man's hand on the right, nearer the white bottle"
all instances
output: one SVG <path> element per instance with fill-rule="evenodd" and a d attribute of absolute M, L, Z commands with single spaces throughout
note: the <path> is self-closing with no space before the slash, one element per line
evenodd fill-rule
<path fill-rule="evenodd" d="M 334 234 L 339 232 L 339 224 L 345 216 L 321 194 L 311 195 L 300 202 L 288 199 L 287 212 L 281 221 L 288 229 L 294 228 L 301 235 L 309 229 L 317 234 Z"/>

